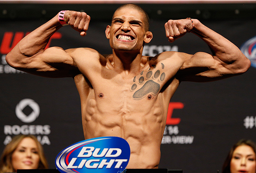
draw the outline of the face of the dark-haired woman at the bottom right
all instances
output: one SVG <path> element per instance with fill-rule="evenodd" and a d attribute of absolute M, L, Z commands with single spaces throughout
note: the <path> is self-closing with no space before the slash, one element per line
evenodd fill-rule
<path fill-rule="evenodd" d="M 255 152 L 248 145 L 240 145 L 233 152 L 230 162 L 231 173 L 255 173 Z"/>

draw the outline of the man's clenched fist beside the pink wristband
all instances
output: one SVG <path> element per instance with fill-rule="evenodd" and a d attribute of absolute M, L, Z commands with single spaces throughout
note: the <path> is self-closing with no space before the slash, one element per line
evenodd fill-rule
<path fill-rule="evenodd" d="M 64 14 L 64 21 L 69 24 L 73 29 L 80 32 L 81 36 L 86 35 L 89 27 L 90 16 L 84 12 L 66 11 Z"/>

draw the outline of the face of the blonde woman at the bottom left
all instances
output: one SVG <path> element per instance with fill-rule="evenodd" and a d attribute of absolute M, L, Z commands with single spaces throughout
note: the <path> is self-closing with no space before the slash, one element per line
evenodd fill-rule
<path fill-rule="evenodd" d="M 32 138 L 24 138 L 11 155 L 13 169 L 37 169 L 39 165 L 38 147 Z"/>

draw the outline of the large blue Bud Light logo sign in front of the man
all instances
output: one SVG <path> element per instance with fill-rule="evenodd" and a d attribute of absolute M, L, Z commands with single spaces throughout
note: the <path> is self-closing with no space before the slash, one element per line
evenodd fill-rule
<path fill-rule="evenodd" d="M 129 144 L 123 138 L 92 138 L 63 149 L 55 165 L 61 173 L 122 173 L 130 153 Z"/>

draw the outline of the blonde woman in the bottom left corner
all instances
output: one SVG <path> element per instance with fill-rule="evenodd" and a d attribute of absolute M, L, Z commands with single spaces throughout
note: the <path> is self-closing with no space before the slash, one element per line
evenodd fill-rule
<path fill-rule="evenodd" d="M 42 145 L 34 135 L 17 135 L 6 145 L 0 160 L 0 173 L 17 169 L 48 169 Z"/>

